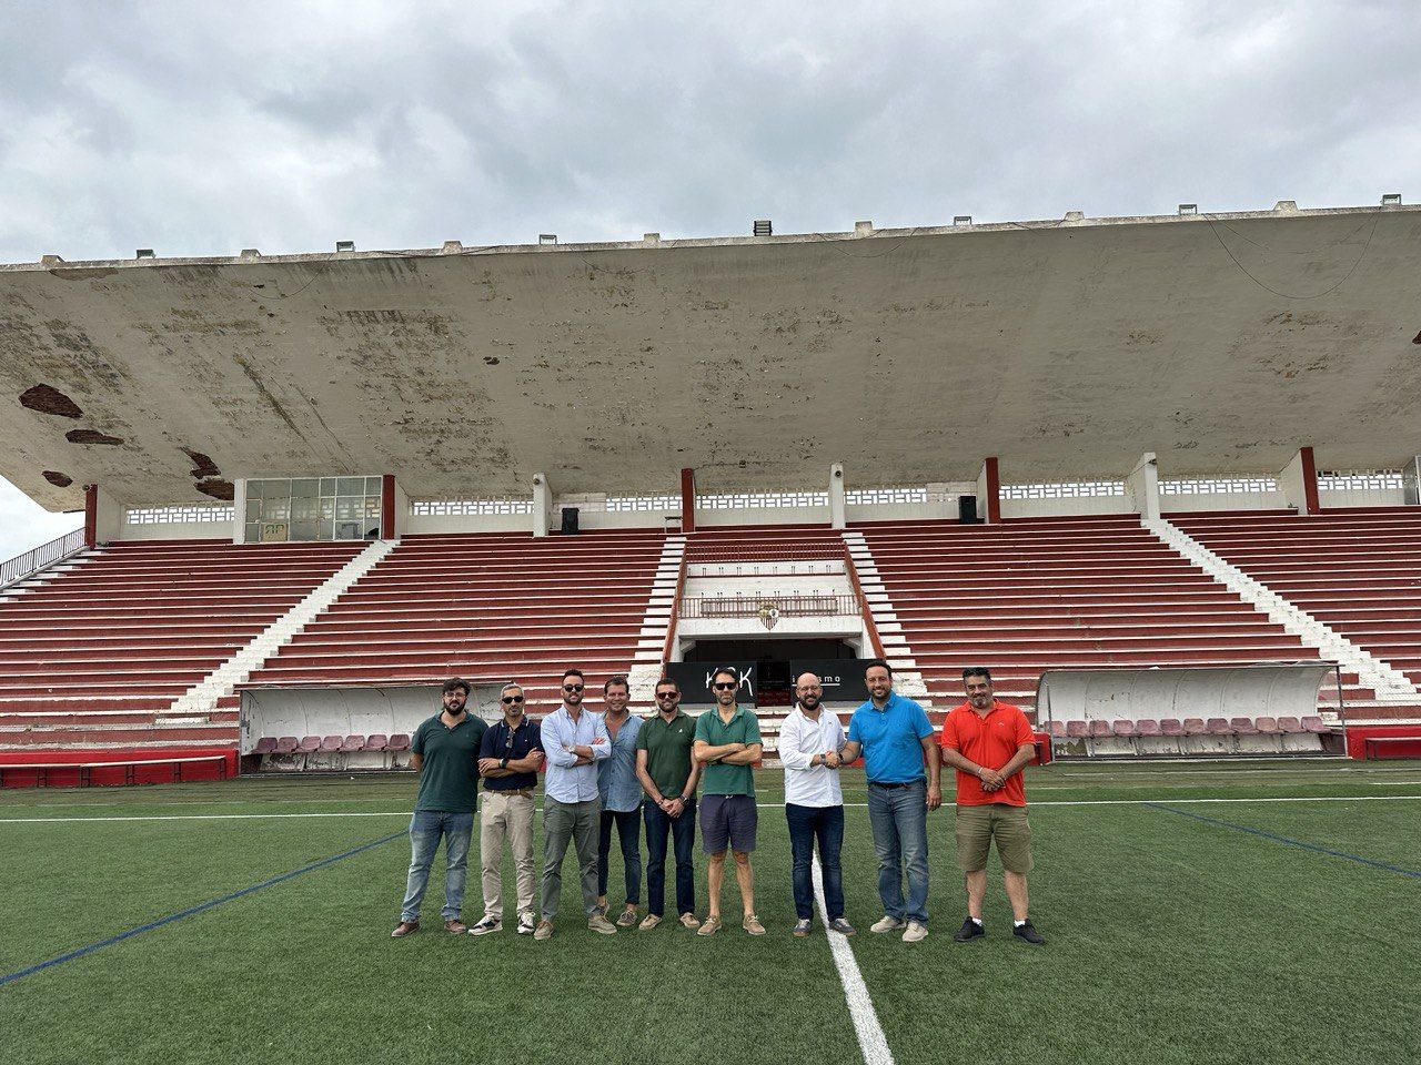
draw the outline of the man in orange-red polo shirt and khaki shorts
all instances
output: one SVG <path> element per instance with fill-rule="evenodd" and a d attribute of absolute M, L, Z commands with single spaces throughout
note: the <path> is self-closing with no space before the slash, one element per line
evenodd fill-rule
<path fill-rule="evenodd" d="M 986 666 L 962 670 L 968 701 L 942 723 L 942 761 L 958 771 L 958 865 L 966 873 L 968 919 L 952 939 L 966 943 L 985 936 L 986 855 L 996 839 L 1002 880 L 1016 919 L 1013 936 L 1040 946 L 1046 939 L 1026 916 L 1026 873 L 1032 870 L 1032 828 L 1026 824 L 1022 768 L 1036 741 L 1026 714 L 998 701 Z"/>

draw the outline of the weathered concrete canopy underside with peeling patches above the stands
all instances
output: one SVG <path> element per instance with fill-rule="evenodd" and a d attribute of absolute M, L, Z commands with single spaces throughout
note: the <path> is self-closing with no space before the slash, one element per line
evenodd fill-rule
<path fill-rule="evenodd" d="M 20 264 L 0 473 L 70 510 L 85 483 L 169 504 L 311 473 L 455 498 L 534 471 L 674 491 L 686 466 L 702 491 L 820 487 L 836 460 L 953 481 L 988 454 L 1007 483 L 1145 450 L 1273 473 L 1307 443 L 1395 467 L 1421 453 L 1418 297 L 1415 207 Z M 38 385 L 78 416 L 23 406 Z"/>

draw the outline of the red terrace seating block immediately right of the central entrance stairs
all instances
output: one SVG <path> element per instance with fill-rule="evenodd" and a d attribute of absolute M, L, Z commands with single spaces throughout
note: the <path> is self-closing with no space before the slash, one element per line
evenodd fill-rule
<path fill-rule="evenodd" d="M 860 568 L 885 596 L 935 714 L 962 701 L 965 665 L 1033 711 L 1050 667 L 1221 666 L 1317 659 L 1316 648 L 1171 550 L 1134 515 L 1017 518 L 998 525 L 854 525 Z M 1349 701 L 1373 692 L 1343 673 Z M 1336 707 L 1336 692 L 1320 709 Z"/>

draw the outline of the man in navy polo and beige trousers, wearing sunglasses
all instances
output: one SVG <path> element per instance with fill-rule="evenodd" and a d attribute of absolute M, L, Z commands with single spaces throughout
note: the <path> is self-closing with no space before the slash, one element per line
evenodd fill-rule
<path fill-rule="evenodd" d="M 503 930 L 503 843 L 513 852 L 517 876 L 519 934 L 533 933 L 533 790 L 543 765 L 537 721 L 524 714 L 523 689 L 504 684 L 499 693 L 503 717 L 479 744 L 483 809 L 479 815 L 479 859 L 483 869 L 483 919 L 470 936 Z"/>

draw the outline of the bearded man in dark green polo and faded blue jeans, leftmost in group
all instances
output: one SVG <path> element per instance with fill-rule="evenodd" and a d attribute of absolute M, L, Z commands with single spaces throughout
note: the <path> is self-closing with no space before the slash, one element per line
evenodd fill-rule
<path fill-rule="evenodd" d="M 389 933 L 395 939 L 419 929 L 419 903 L 429 886 L 429 865 L 445 841 L 445 932 L 462 936 L 469 926 L 463 912 L 463 883 L 469 870 L 469 841 L 473 836 L 473 809 L 479 801 L 479 741 L 487 727 L 483 719 L 469 714 L 469 683 L 450 677 L 441 696 L 443 709 L 421 723 L 409 744 L 411 764 L 419 772 L 415 816 L 409 821 L 409 879 L 399 924 Z"/>

